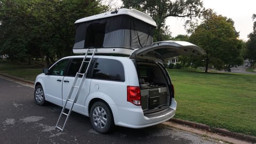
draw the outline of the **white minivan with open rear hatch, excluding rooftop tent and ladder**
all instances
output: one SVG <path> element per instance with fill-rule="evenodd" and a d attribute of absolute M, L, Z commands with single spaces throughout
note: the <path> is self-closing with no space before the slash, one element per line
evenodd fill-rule
<path fill-rule="evenodd" d="M 160 62 L 189 54 L 204 51 L 188 42 L 163 41 L 122 57 L 96 54 L 73 111 L 89 116 L 100 133 L 114 125 L 142 128 L 167 121 L 174 116 L 177 102 L 171 78 Z M 45 101 L 64 105 L 83 57 L 62 58 L 36 77 L 37 105 Z"/>

